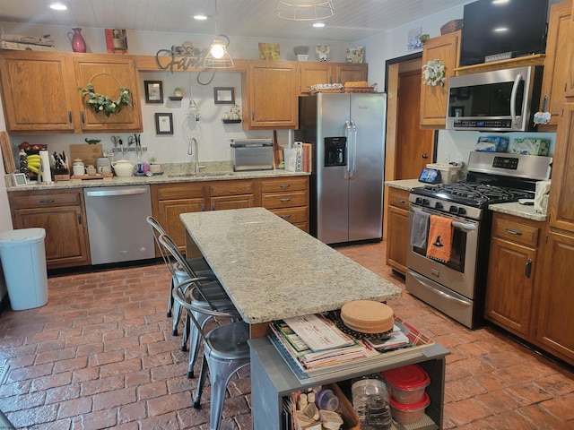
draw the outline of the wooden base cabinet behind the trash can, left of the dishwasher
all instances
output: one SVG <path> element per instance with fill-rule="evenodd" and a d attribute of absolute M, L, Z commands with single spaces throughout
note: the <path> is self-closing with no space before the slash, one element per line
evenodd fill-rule
<path fill-rule="evenodd" d="M 48 269 L 90 264 L 83 191 L 8 193 L 14 228 L 44 228 Z"/>

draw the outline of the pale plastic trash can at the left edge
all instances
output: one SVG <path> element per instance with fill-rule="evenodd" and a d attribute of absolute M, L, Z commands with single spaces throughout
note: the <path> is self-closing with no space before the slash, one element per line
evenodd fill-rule
<path fill-rule="evenodd" d="M 0 260 L 14 311 L 48 303 L 48 271 L 44 228 L 20 228 L 0 233 Z"/>

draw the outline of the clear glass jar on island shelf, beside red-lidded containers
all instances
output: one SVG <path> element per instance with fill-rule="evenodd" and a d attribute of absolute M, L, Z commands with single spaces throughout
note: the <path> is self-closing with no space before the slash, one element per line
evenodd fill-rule
<path fill-rule="evenodd" d="M 389 430 L 393 426 L 388 404 L 390 391 L 385 378 L 370 374 L 352 380 L 352 408 L 361 430 Z"/>

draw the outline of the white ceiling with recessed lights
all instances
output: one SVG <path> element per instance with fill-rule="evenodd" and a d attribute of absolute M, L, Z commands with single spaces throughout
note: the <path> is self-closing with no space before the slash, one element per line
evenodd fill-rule
<path fill-rule="evenodd" d="M 215 0 L 60 0 L 64 12 L 48 8 L 50 0 L 1 0 L 0 22 L 64 27 L 213 34 L 214 20 L 197 22 L 196 13 L 215 15 Z M 357 41 L 472 0 L 333 0 L 335 16 L 324 29 L 310 22 L 274 16 L 276 0 L 217 0 L 217 25 L 228 36 Z M 462 18 L 462 16 L 461 16 Z"/>

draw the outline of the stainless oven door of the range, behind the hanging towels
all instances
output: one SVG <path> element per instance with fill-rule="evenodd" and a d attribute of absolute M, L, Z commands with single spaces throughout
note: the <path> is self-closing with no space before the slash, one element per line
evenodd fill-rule
<path fill-rule="evenodd" d="M 477 250 L 480 222 L 465 219 L 445 212 L 411 203 L 409 208 L 409 229 L 413 228 L 414 211 L 425 211 L 431 215 L 452 219 L 453 240 L 450 260 L 447 263 L 432 260 L 426 256 L 426 249 L 408 244 L 406 265 L 411 271 L 456 291 L 461 296 L 474 299 Z M 409 235 L 410 236 L 410 235 Z M 407 288 L 408 289 L 408 288 Z"/>

